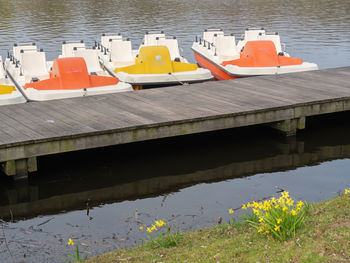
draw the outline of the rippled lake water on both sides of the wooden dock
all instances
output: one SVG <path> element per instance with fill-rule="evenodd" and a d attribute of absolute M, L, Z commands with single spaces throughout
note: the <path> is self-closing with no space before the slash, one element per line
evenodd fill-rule
<path fill-rule="evenodd" d="M 278 31 L 287 52 L 320 68 L 350 65 L 350 1 L 0 0 L 0 54 L 35 41 L 48 59 L 63 40 L 92 45 L 103 32 L 141 43 L 148 30 L 191 44 L 205 28 L 239 37 Z M 307 120 L 295 139 L 250 127 L 39 158 L 28 183 L 0 178 L 0 218 L 16 262 L 61 262 L 69 237 L 88 256 L 139 244 L 140 224 L 182 230 L 228 219 L 228 209 L 274 195 L 321 201 L 350 186 L 349 114 Z M 277 187 L 277 188 L 276 188 Z M 11 222 L 12 221 L 12 222 Z M 12 262 L 0 232 L 1 262 Z"/>

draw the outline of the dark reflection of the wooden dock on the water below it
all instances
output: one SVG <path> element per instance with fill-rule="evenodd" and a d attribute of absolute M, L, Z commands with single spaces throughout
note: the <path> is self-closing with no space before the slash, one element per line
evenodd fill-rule
<path fill-rule="evenodd" d="M 0 218 L 83 210 L 349 158 L 350 125 L 331 118 L 311 120 L 294 139 L 251 127 L 45 157 L 28 182 L 0 177 Z"/>

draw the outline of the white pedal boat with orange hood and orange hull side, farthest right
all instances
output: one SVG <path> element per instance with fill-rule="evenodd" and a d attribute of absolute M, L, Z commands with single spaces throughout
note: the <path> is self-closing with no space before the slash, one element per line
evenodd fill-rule
<path fill-rule="evenodd" d="M 218 80 L 318 69 L 315 63 L 290 57 L 282 51 L 278 33 L 269 34 L 263 28 L 247 29 L 237 45 L 233 34 L 207 29 L 203 39 L 196 37 L 192 50 L 198 64 Z"/>

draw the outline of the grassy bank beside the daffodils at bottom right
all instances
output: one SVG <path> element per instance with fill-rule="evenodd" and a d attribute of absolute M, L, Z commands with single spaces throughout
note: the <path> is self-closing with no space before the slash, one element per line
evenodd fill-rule
<path fill-rule="evenodd" d="M 295 239 L 279 241 L 247 224 L 184 233 L 172 248 L 151 244 L 87 260 L 115 262 L 350 262 L 350 195 L 315 204 Z"/>

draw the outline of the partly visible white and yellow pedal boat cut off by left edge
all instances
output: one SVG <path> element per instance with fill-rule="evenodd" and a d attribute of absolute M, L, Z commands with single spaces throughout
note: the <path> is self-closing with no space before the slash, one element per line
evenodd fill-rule
<path fill-rule="evenodd" d="M 26 100 L 6 75 L 2 57 L 0 56 L 0 106 L 24 102 Z"/>

